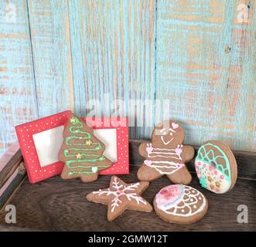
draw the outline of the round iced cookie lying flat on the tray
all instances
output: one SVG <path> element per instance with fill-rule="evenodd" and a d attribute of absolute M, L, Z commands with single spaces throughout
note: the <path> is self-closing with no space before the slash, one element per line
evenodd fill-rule
<path fill-rule="evenodd" d="M 162 188 L 155 195 L 154 208 L 166 222 L 190 224 L 200 220 L 207 212 L 208 203 L 200 191 L 183 184 Z"/>

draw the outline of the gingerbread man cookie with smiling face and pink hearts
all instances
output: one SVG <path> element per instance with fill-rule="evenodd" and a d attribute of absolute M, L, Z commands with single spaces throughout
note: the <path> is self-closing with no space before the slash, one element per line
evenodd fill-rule
<path fill-rule="evenodd" d="M 193 159 L 194 149 L 184 146 L 185 135 L 179 123 L 163 121 L 152 133 L 152 143 L 143 143 L 138 151 L 145 157 L 138 169 L 138 179 L 152 181 L 163 175 L 175 184 L 189 184 L 192 177 L 185 163 Z"/>

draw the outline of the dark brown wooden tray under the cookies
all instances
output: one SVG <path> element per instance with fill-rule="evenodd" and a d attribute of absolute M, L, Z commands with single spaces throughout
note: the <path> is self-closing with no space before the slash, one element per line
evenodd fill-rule
<path fill-rule="evenodd" d="M 125 182 L 137 181 L 136 172 L 143 162 L 138 154 L 142 140 L 130 140 L 131 174 L 120 176 Z M 197 150 L 197 147 L 195 147 Z M 97 181 L 83 184 L 80 180 L 64 181 L 60 177 L 49 178 L 38 184 L 29 184 L 26 179 L 9 204 L 17 209 L 17 223 L 5 224 L 5 211 L 0 213 L 0 231 L 46 230 L 46 231 L 255 231 L 256 230 L 256 154 L 234 152 L 238 164 L 237 184 L 224 195 L 215 195 L 200 187 L 193 161 L 189 170 L 193 173 L 190 184 L 206 195 L 209 201 L 207 215 L 192 225 L 174 225 L 162 221 L 155 212 L 125 211 L 114 222 L 106 219 L 107 206 L 86 200 L 86 195 L 99 188 L 108 188 L 110 176 L 101 176 Z M 152 202 L 155 194 L 170 184 L 162 177 L 152 181 L 143 197 Z M 248 223 L 237 222 L 238 205 L 247 205 Z"/>

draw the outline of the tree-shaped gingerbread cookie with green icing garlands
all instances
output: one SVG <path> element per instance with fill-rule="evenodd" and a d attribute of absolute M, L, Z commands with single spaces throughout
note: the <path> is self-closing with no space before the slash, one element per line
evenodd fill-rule
<path fill-rule="evenodd" d="M 112 162 L 103 155 L 105 146 L 94 136 L 93 128 L 73 113 L 67 120 L 63 137 L 59 159 L 65 162 L 65 166 L 61 178 L 95 181 L 99 171 L 111 166 Z"/>

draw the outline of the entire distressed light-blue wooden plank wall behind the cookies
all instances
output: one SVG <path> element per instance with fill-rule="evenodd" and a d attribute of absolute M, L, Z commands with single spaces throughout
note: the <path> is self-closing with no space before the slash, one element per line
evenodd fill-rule
<path fill-rule="evenodd" d="M 15 125 L 67 109 L 127 113 L 133 138 L 172 118 L 187 143 L 256 151 L 255 2 L 1 1 L 0 154 Z"/>

